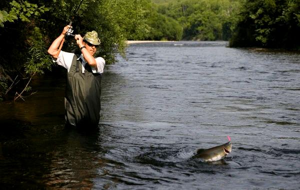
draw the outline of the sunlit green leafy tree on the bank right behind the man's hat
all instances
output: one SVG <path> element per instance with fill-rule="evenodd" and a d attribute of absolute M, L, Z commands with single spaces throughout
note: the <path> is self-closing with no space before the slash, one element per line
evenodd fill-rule
<path fill-rule="evenodd" d="M 87 13 L 84 25 L 89 30 L 96 28 L 101 36 L 100 55 L 105 61 L 115 63 L 115 56 L 119 53 L 125 56 L 127 39 L 135 39 L 147 32 L 145 24 L 145 10 L 142 0 L 102 0 L 95 4 L 97 15 L 92 12 Z"/>

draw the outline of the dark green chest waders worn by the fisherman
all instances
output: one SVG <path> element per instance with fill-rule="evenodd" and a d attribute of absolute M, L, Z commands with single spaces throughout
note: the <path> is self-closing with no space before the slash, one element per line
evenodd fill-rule
<path fill-rule="evenodd" d="M 81 60 L 74 55 L 66 77 L 65 121 L 66 125 L 94 127 L 99 123 L 101 74 L 92 73 L 86 63 L 82 73 Z"/>

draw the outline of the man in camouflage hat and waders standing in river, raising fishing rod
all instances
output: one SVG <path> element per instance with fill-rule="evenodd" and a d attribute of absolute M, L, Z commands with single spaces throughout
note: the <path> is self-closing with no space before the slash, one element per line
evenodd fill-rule
<path fill-rule="evenodd" d="M 101 75 L 105 61 L 102 57 L 94 58 L 96 46 L 100 44 L 97 32 L 87 32 L 83 38 L 75 35 L 81 51 L 77 57 L 74 53 L 58 51 L 60 43 L 70 26 L 52 42 L 48 53 L 53 61 L 67 69 L 65 85 L 65 122 L 66 126 L 97 126 L 100 112 Z"/>

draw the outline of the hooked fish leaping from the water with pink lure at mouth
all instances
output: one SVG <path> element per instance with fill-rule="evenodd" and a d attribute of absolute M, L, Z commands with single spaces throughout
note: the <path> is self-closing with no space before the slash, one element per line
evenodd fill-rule
<path fill-rule="evenodd" d="M 210 149 L 197 149 L 192 158 L 201 159 L 204 162 L 215 162 L 223 159 L 231 152 L 231 139 L 229 136 L 227 136 L 227 138 L 228 142 L 223 145 L 212 147 Z"/>

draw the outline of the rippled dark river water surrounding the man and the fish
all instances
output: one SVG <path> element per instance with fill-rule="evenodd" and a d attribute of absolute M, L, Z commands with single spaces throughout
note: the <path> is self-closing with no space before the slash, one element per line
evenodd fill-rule
<path fill-rule="evenodd" d="M 1 188 L 299 189 L 300 54 L 226 45 L 131 44 L 105 68 L 93 131 L 64 128 L 63 77 L 35 78 L 0 104 Z M 222 161 L 191 158 L 226 136 Z"/>

